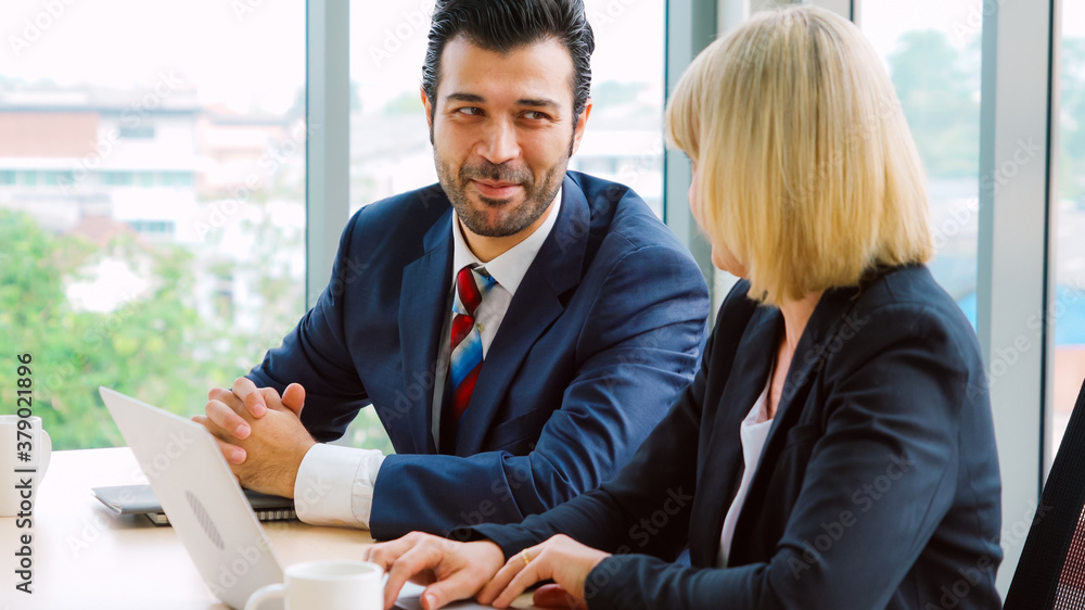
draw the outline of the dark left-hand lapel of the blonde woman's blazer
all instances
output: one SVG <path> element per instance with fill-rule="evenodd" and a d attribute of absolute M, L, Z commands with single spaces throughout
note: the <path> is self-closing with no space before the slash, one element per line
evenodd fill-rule
<path fill-rule="evenodd" d="M 739 340 L 735 365 L 719 397 L 705 468 L 698 476 L 697 491 L 705 499 L 694 505 L 690 521 L 690 532 L 699 533 L 690 541 L 693 565 L 716 564 L 724 518 L 742 475 L 739 430 L 754 401 L 765 390 L 782 331 L 783 318 L 778 309 L 757 307 Z"/>

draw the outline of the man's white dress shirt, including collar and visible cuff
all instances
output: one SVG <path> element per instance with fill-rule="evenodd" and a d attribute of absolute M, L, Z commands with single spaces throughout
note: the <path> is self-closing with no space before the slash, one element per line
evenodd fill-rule
<path fill-rule="evenodd" d="M 490 289 L 475 310 L 475 323 L 482 338 L 483 361 L 489 351 L 497 330 L 501 327 L 509 304 L 520 288 L 527 268 L 535 262 L 535 256 L 542 242 L 553 230 L 561 211 L 561 189 L 550 206 L 546 220 L 535 229 L 524 241 L 509 249 L 485 265 L 478 260 L 460 229 L 459 217 L 454 213 L 450 230 L 452 232 L 452 277 L 445 307 L 445 322 L 441 331 L 441 342 L 437 348 L 437 368 L 433 391 L 433 440 L 441 446 L 441 405 L 445 390 L 445 378 L 448 374 L 449 328 L 452 319 L 452 300 L 456 290 L 456 275 L 467 265 L 476 264 L 483 267 L 497 284 Z M 297 469 L 297 480 L 294 483 L 294 509 L 297 518 L 315 525 L 352 525 L 369 529 L 369 519 L 373 509 L 373 487 L 376 476 L 384 462 L 384 454 L 376 449 L 359 449 L 318 443 L 314 445 Z"/>

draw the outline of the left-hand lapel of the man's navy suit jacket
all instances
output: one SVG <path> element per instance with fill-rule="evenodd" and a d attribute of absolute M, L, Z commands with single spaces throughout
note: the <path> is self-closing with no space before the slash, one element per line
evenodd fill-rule
<path fill-rule="evenodd" d="M 399 344 L 404 358 L 404 396 L 412 452 L 435 454 L 433 424 L 434 374 L 437 346 L 451 290 L 452 208 L 441 215 L 423 239 L 425 254 L 404 268 L 399 294 Z M 394 425 L 394 424 L 392 424 Z"/>

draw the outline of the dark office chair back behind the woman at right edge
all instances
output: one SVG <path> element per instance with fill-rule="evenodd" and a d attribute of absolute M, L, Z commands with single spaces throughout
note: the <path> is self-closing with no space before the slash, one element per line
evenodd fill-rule
<path fill-rule="evenodd" d="M 1005 610 L 1085 610 L 1085 383 L 1047 476 Z"/>

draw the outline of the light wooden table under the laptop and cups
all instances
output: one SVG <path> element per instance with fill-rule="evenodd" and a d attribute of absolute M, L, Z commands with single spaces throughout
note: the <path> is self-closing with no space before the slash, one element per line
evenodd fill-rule
<path fill-rule="evenodd" d="M 173 528 L 142 516 L 117 516 L 91 487 L 146 483 L 128 447 L 54 452 L 37 490 L 31 530 L 0 518 L 0 610 L 216 609 Z M 282 564 L 314 559 L 360 559 L 369 532 L 298 521 L 264 523 Z M 33 536 L 31 595 L 15 590 L 22 546 Z M 531 596 L 516 608 L 529 608 Z"/>

